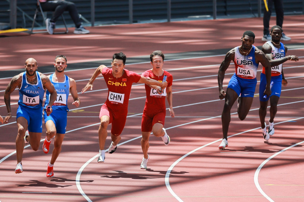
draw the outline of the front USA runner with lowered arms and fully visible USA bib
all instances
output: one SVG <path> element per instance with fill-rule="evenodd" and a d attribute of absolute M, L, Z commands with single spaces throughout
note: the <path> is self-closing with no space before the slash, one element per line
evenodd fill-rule
<path fill-rule="evenodd" d="M 219 98 L 225 98 L 225 104 L 222 112 L 222 128 L 223 140 L 219 145 L 219 149 L 225 149 L 228 146 L 227 134 L 230 124 L 230 110 L 240 95 L 237 113 L 240 120 L 244 120 L 250 110 L 254 91 L 257 84 L 257 67 L 261 63 L 265 67 L 267 88 L 265 94 L 270 95 L 269 88 L 271 78 L 271 67 L 264 53 L 255 47 L 255 35 L 252 31 L 245 31 L 241 41 L 242 45 L 237 46 L 227 52 L 218 72 Z M 231 77 L 227 91 L 223 90 L 223 80 L 225 72 L 230 65 L 230 61 L 234 62 L 235 73 Z"/>

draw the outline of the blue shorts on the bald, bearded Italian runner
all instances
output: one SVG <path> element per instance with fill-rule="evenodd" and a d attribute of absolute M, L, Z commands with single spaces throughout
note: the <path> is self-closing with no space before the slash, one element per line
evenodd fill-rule
<path fill-rule="evenodd" d="M 29 132 L 42 133 L 42 106 L 32 109 L 19 105 L 16 117 L 26 118 Z"/>

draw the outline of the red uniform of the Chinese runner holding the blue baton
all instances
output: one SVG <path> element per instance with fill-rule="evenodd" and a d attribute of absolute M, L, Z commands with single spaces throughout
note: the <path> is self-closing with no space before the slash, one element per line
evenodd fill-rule
<path fill-rule="evenodd" d="M 167 87 L 172 86 L 172 75 L 168 71 L 164 71 L 164 74 L 161 76 L 155 76 L 152 72 L 152 69 L 143 72 L 142 76 L 146 78 L 151 78 L 162 82 L 164 75 L 167 76 Z M 143 118 L 141 120 L 141 131 L 151 132 L 152 127 L 155 123 L 163 124 L 165 123 L 166 116 L 166 90 L 163 90 L 163 93 L 160 95 L 153 88 L 150 88 L 149 85 L 145 84 L 146 89 L 146 103 L 145 108 L 143 109 Z"/>

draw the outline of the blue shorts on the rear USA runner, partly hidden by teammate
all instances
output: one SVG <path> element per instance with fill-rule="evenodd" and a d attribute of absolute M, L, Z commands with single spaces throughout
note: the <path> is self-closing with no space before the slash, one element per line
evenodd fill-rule
<path fill-rule="evenodd" d="M 259 94 L 260 94 L 260 101 L 262 101 L 262 102 L 268 101 L 272 95 L 275 95 L 278 97 L 280 97 L 280 95 L 281 95 L 282 75 L 272 76 L 271 81 L 273 81 L 272 88 L 271 88 L 271 95 L 269 97 L 267 97 L 266 99 L 264 99 L 263 96 L 264 96 L 264 91 L 266 88 L 267 81 L 266 81 L 266 75 L 261 73 Z"/>

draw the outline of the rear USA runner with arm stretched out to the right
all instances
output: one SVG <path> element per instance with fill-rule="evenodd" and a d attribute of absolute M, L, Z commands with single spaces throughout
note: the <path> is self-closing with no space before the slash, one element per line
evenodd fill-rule
<path fill-rule="evenodd" d="M 261 73 L 261 83 L 259 88 L 260 94 L 260 109 L 259 109 L 259 116 L 261 121 L 261 129 L 263 136 L 271 136 L 275 134 L 275 127 L 274 127 L 274 118 L 278 111 L 277 105 L 281 95 L 282 84 L 284 86 L 287 85 L 287 79 L 284 77 L 283 73 L 283 63 L 292 60 L 298 61 L 299 58 L 295 55 L 288 55 L 287 47 L 281 42 L 282 38 L 282 28 L 278 25 L 275 25 L 271 28 L 271 41 L 267 41 L 262 46 L 262 51 L 265 53 L 266 57 L 268 58 L 270 65 L 271 65 L 271 83 L 273 82 L 271 88 L 271 95 L 266 99 L 263 98 L 263 92 L 266 87 L 266 75 L 265 75 L 265 68 L 263 67 Z M 266 122 L 265 117 L 267 114 L 267 105 L 268 100 L 270 99 L 270 119 L 269 119 L 269 127 L 268 132 L 266 129 Z"/>

